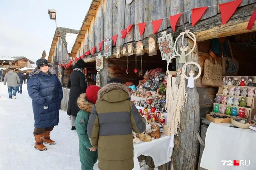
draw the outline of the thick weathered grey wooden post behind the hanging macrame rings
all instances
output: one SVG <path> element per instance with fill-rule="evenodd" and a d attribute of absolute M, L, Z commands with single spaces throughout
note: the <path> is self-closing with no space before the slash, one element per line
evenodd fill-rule
<path fill-rule="evenodd" d="M 191 50 L 194 42 L 187 38 L 185 38 L 184 42 L 188 42 L 188 51 Z M 179 44 L 181 44 L 181 41 Z M 188 55 L 187 62 L 194 61 L 194 55 L 198 54 L 192 52 L 192 54 Z M 183 65 L 179 63 L 179 57 L 176 57 L 176 69 L 182 68 Z M 195 70 L 194 65 L 187 66 L 187 76 L 190 70 Z M 199 132 L 200 127 L 199 94 L 196 87 L 187 88 L 186 90 L 188 96 L 187 107 L 181 114 L 180 132 L 174 136 L 174 151 L 172 154 L 174 170 L 195 170 L 197 168 L 199 141 L 196 133 Z"/>

